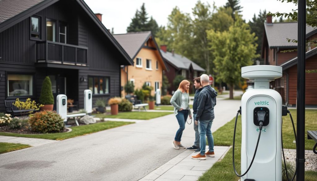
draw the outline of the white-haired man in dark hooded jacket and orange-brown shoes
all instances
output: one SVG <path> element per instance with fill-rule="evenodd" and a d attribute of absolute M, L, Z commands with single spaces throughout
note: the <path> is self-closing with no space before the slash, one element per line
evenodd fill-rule
<path fill-rule="evenodd" d="M 192 156 L 193 159 L 206 159 L 206 156 L 215 157 L 214 139 L 211 133 L 212 121 L 215 118 L 214 107 L 216 105 L 217 91 L 209 85 L 209 76 L 202 74 L 200 81 L 203 89 L 199 93 L 197 103 L 197 114 L 195 123 L 198 121 L 198 130 L 200 136 L 200 153 Z M 206 136 L 209 144 L 209 151 L 206 149 Z"/>

